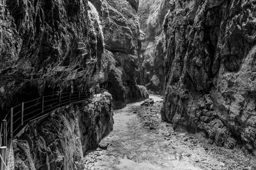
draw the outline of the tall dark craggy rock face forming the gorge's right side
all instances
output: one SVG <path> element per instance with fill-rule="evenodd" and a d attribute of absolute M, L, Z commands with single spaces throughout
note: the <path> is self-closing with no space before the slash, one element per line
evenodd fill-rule
<path fill-rule="evenodd" d="M 255 2 L 166 3 L 163 120 L 256 154 Z"/>

